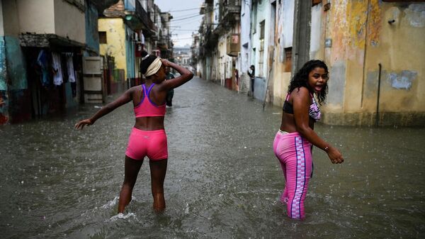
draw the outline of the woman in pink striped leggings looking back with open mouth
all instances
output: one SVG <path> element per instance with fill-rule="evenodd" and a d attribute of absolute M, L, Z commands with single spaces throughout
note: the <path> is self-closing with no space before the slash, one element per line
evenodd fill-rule
<path fill-rule="evenodd" d="M 306 62 L 295 74 L 283 104 L 280 128 L 273 141 L 273 151 L 285 177 L 280 201 L 287 204 L 290 218 L 305 218 L 304 201 L 312 174 L 312 145 L 327 152 L 332 163 L 344 162 L 341 152 L 314 132 L 314 122 L 321 117 L 317 101 L 322 104 L 326 99 L 328 76 L 327 65 L 321 60 Z"/>

